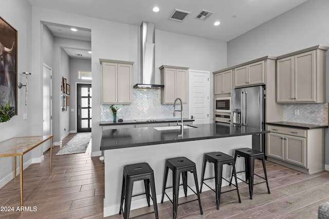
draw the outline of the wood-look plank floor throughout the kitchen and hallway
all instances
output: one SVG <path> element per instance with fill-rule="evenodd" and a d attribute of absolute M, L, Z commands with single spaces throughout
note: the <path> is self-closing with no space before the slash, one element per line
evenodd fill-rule
<path fill-rule="evenodd" d="M 73 137 L 70 134 L 63 145 Z M 32 212 L 0 211 L 0 218 L 103 218 L 104 164 L 99 157 L 86 153 L 55 156 L 59 146 L 53 148 L 52 174 L 49 175 L 49 150 L 45 160 L 24 170 L 24 206 L 36 207 Z M 261 163 L 255 172 L 262 175 Z M 266 161 L 271 194 L 266 184 L 254 186 L 253 200 L 249 198 L 247 184 L 240 183 L 242 203 L 236 191 L 221 194 L 220 210 L 216 209 L 215 193 L 201 194 L 204 214 L 200 215 L 197 202 L 178 206 L 178 218 L 317 218 L 318 206 L 329 201 L 329 172 L 308 175 Z M 200 173 L 198 173 L 200 177 Z M 255 177 L 257 180 L 257 177 Z M 157 188 L 159 190 L 160 188 Z M 223 187 L 222 190 L 228 189 Z M 183 197 L 179 202 L 194 199 Z M 0 188 L 0 207 L 14 207 L 20 203 L 19 177 Z M 160 218 L 172 218 L 170 202 L 158 204 Z M 4 210 L 4 209 L 0 209 Z M 131 217 L 152 211 L 144 207 L 131 211 Z M 107 218 L 122 218 L 113 215 Z M 154 218 L 154 214 L 139 218 Z"/>

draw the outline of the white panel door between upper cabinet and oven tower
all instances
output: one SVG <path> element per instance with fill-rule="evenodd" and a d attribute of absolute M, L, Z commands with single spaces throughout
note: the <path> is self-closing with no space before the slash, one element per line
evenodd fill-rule
<path fill-rule="evenodd" d="M 193 124 L 210 123 L 209 75 L 209 71 L 189 70 L 189 117 Z"/>

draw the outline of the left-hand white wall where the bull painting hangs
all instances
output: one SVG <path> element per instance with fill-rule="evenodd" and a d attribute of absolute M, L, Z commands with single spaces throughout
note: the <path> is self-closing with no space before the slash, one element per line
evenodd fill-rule
<path fill-rule="evenodd" d="M 17 30 L 17 81 L 25 84 L 22 72 L 32 72 L 28 86 L 35 85 L 35 74 L 31 68 L 31 6 L 26 0 L 2 1 L 0 16 Z M 25 88 L 17 89 L 17 113 L 9 122 L 0 123 L 0 142 L 15 136 L 26 136 L 34 133 L 32 115 L 35 108 L 31 99 L 34 93 L 28 93 L 28 105 L 25 106 Z M 42 109 L 41 109 L 42 111 Z M 27 120 L 23 120 L 23 113 L 28 113 Z M 41 157 L 42 153 L 32 150 L 24 155 L 24 168 L 32 161 L 32 157 Z M 19 162 L 17 162 L 17 165 Z M 13 178 L 13 157 L 0 158 L 0 188 Z"/>

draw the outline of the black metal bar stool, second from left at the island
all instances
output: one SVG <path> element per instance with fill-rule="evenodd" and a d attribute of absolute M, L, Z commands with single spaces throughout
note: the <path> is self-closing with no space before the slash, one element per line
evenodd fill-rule
<path fill-rule="evenodd" d="M 171 169 L 173 171 L 173 186 L 172 187 L 166 187 L 169 169 Z M 190 171 L 191 173 L 193 173 L 196 192 L 193 191 L 191 189 L 191 187 L 189 187 L 187 185 L 187 171 Z M 180 173 L 182 175 L 182 183 L 183 184 L 179 184 Z M 187 187 L 189 187 L 197 195 L 197 200 L 199 202 L 200 213 L 203 214 L 202 207 L 201 207 L 201 201 L 200 201 L 199 186 L 198 186 L 198 182 L 197 182 L 195 163 L 190 161 L 186 157 L 176 157 L 176 158 L 167 159 L 166 160 L 165 175 L 163 176 L 163 187 L 162 187 L 161 203 L 163 203 L 163 197 L 165 197 L 165 194 L 166 194 L 166 196 L 169 198 L 170 202 L 173 204 L 174 219 L 176 219 L 176 217 L 177 217 L 178 192 L 179 192 L 179 186 L 181 186 L 181 185 L 184 188 L 185 197 L 187 197 Z M 173 188 L 173 201 L 170 199 L 170 197 L 166 193 L 166 189 L 169 189 L 169 188 Z M 191 201 L 188 201 L 188 202 L 193 202 L 193 201 L 196 201 L 196 200 L 191 200 Z M 188 203 L 188 202 L 185 202 L 185 203 Z M 185 203 L 180 203 L 179 205 L 185 204 Z"/>

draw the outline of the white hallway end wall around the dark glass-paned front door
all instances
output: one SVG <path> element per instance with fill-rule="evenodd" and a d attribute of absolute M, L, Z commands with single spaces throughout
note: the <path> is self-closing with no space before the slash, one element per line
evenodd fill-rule
<path fill-rule="evenodd" d="M 79 79 L 79 71 L 92 71 L 92 61 L 81 58 L 70 58 L 70 132 L 77 132 L 77 83 L 92 84 L 91 80 Z M 97 89 L 97 88 L 96 88 Z"/>

